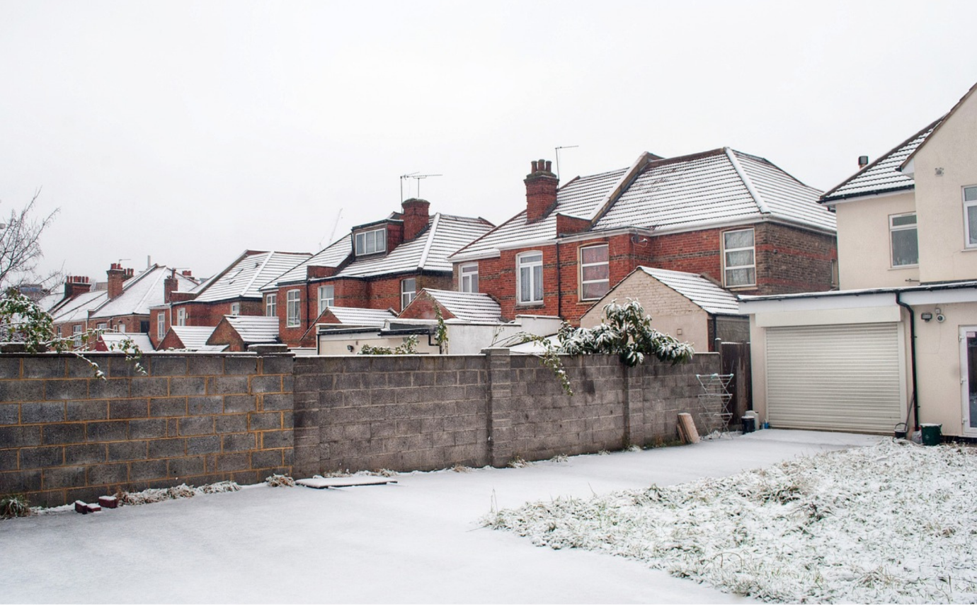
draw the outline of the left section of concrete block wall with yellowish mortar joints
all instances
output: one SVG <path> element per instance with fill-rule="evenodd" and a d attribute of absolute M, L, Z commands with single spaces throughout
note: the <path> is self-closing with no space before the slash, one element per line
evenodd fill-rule
<path fill-rule="evenodd" d="M 94 501 L 290 473 L 291 355 L 0 355 L 0 495 Z"/>

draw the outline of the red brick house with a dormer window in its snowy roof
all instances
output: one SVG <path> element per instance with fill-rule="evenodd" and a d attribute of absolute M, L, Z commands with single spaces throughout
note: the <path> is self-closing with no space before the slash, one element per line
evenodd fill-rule
<path fill-rule="evenodd" d="M 447 256 L 492 228 L 483 218 L 430 214 L 424 199 L 354 227 L 343 238 L 265 284 L 265 315 L 277 316 L 289 346 L 315 347 L 329 307 L 400 312 L 422 288 L 453 285 Z"/>

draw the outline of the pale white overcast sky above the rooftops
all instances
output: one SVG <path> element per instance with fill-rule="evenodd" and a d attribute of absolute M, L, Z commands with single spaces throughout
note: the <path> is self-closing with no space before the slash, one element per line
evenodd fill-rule
<path fill-rule="evenodd" d="M 558 146 L 561 183 L 729 146 L 827 190 L 977 81 L 975 22 L 969 0 L 0 0 L 0 206 L 41 190 L 44 267 L 105 280 L 315 252 L 412 172 L 441 175 L 432 212 L 497 224 Z"/>

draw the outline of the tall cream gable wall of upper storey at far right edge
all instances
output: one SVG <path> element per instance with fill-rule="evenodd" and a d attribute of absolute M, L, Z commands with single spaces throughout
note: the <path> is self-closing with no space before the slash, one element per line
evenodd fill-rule
<path fill-rule="evenodd" d="M 943 168 L 937 176 L 936 168 Z M 977 96 L 970 96 L 913 157 L 919 211 L 920 280 L 977 279 L 977 248 L 966 248 L 964 186 L 977 185 Z"/>

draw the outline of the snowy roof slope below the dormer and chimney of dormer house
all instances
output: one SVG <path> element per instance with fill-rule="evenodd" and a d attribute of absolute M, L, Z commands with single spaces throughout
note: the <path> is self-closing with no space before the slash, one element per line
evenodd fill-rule
<path fill-rule="evenodd" d="M 485 219 L 435 214 L 430 227 L 417 238 L 398 245 L 389 254 L 355 260 L 336 277 L 369 278 L 417 270 L 450 272 L 448 255 L 491 229 Z"/>

